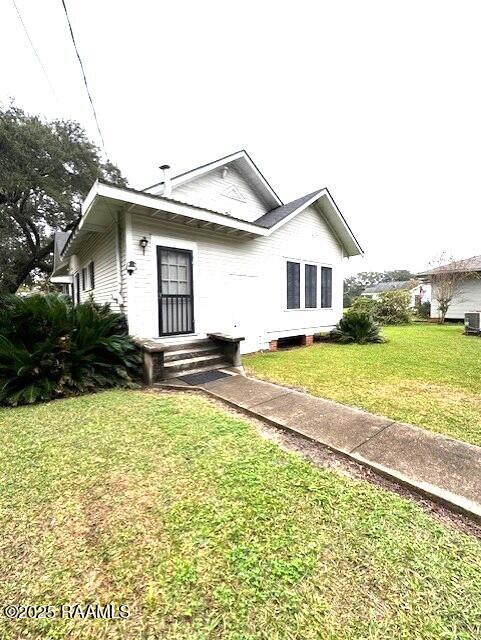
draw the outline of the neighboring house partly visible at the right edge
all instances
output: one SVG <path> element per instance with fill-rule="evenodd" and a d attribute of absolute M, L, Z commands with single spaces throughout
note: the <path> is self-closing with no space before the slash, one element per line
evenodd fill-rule
<path fill-rule="evenodd" d="M 453 272 L 465 273 L 467 277 L 456 286 L 456 291 L 445 319 L 464 321 L 465 313 L 481 311 L 481 256 L 457 260 L 435 269 L 423 271 L 418 275 L 425 282 L 431 284 L 431 318 L 439 318 L 439 307 L 436 301 L 436 277 L 439 281 L 439 278 L 442 277 L 440 274 L 449 273 L 451 267 Z"/>

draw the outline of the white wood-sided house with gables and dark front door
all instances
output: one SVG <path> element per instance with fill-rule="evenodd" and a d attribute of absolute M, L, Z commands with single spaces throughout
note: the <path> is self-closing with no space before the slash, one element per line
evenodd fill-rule
<path fill-rule="evenodd" d="M 143 191 L 97 181 L 54 277 L 122 310 L 163 345 L 241 335 L 243 353 L 313 336 L 342 315 L 344 258 L 362 250 L 327 189 L 284 204 L 245 151 Z"/>

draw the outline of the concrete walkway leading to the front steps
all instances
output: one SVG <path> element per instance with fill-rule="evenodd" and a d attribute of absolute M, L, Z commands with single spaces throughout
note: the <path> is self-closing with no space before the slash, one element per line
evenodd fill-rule
<path fill-rule="evenodd" d="M 480 447 L 240 375 L 196 388 L 481 521 Z"/>

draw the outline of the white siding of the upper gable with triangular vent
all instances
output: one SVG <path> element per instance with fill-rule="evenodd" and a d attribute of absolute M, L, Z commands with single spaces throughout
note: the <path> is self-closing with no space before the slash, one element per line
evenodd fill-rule
<path fill-rule="evenodd" d="M 229 213 L 235 218 L 249 222 L 267 213 L 268 205 L 237 169 L 228 166 L 225 178 L 222 176 L 222 167 L 209 171 L 190 182 L 174 187 L 172 198 Z M 243 202 L 225 195 L 229 193 L 235 195 L 233 190 L 237 190 Z M 155 193 L 155 190 L 152 192 Z"/>

